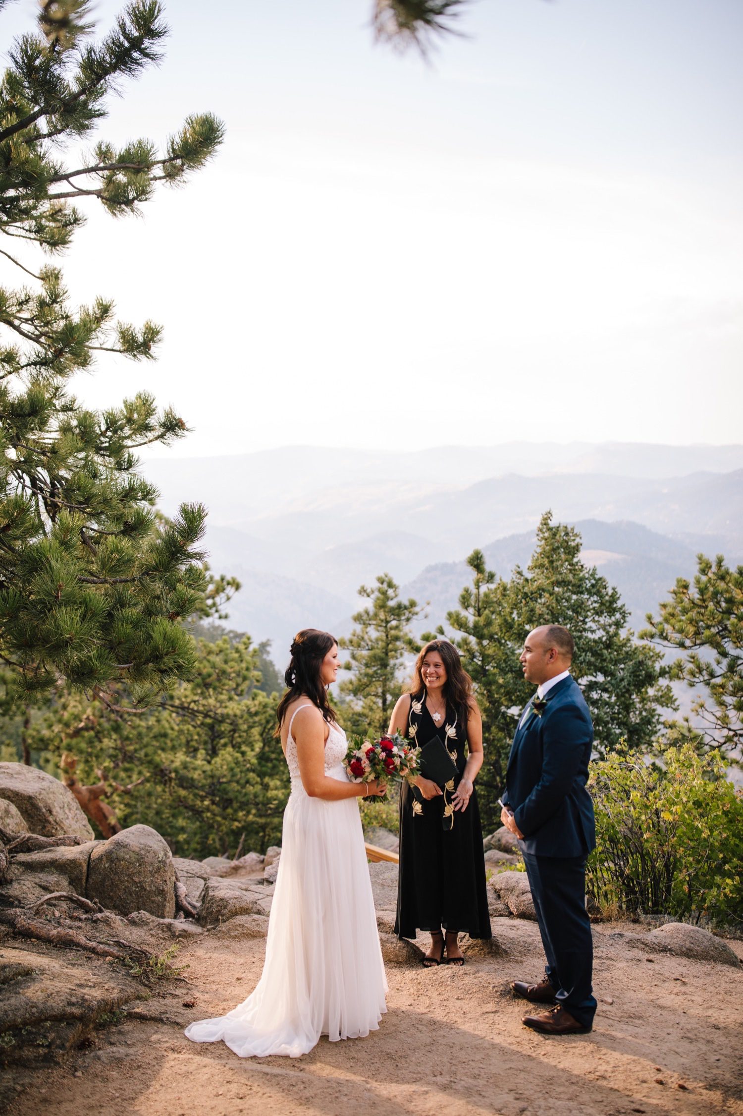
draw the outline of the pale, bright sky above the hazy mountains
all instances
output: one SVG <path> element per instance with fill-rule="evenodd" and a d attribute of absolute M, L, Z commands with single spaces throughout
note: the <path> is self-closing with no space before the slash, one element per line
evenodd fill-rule
<path fill-rule="evenodd" d="M 375 45 L 369 0 L 165 8 L 99 134 L 209 109 L 226 140 L 142 220 L 90 205 L 71 292 L 165 338 L 87 403 L 154 392 L 187 456 L 741 440 L 740 0 L 479 0 L 431 65 Z"/>

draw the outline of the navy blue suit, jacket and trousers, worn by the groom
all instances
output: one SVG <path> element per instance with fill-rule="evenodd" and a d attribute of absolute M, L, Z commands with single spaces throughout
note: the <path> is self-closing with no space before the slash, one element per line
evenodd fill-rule
<path fill-rule="evenodd" d="M 519 722 L 503 802 L 523 840 L 529 886 L 558 1003 L 583 1027 L 596 1012 L 592 939 L 586 913 L 586 858 L 596 847 L 594 802 L 586 789 L 594 725 L 580 687 L 562 679 L 537 713 Z"/>

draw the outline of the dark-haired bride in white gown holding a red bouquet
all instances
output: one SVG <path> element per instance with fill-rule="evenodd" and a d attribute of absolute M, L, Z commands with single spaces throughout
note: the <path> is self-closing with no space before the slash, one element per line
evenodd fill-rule
<path fill-rule="evenodd" d="M 278 708 L 291 795 L 283 815 L 279 874 L 266 961 L 254 991 L 219 1019 L 186 1028 L 194 1042 L 223 1041 L 241 1058 L 298 1058 L 320 1035 L 331 1042 L 378 1029 L 385 979 L 358 806 L 384 786 L 350 782 L 346 733 L 327 687 L 338 644 L 306 628 L 291 645 L 289 687 Z"/>

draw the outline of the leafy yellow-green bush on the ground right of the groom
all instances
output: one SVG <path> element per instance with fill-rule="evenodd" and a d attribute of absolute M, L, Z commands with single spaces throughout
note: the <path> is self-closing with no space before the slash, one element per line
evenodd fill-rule
<path fill-rule="evenodd" d="M 596 762 L 597 849 L 588 893 L 604 910 L 743 924 L 743 799 L 720 752 L 626 749 Z"/>

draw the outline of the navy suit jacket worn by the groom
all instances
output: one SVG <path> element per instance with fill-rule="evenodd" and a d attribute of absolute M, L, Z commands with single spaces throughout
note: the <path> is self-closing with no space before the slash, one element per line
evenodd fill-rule
<path fill-rule="evenodd" d="M 541 715 L 532 710 L 519 722 L 503 801 L 513 810 L 525 853 L 585 856 L 596 848 L 594 802 L 586 790 L 591 715 L 571 677 L 552 686 L 544 701 Z"/>

